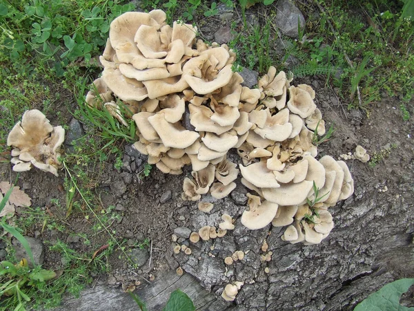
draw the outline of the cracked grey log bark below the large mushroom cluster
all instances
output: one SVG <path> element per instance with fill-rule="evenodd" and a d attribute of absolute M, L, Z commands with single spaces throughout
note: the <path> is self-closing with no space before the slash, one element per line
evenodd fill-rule
<path fill-rule="evenodd" d="M 374 111 L 369 122 L 362 123 L 360 132 L 355 133 L 336 112 L 328 111 L 327 115 L 324 119 L 337 124 L 339 137 L 319 148 L 321 155 L 339 156 L 346 140 L 357 144 L 362 137 L 369 138 L 377 150 L 386 149 L 391 138 L 388 129 L 399 126 L 395 118 Z M 329 209 L 335 228 L 321 244 L 291 245 L 280 238 L 284 228 L 269 225 L 250 231 L 237 219 L 236 229 L 224 238 L 190 244 L 193 254 L 175 255 L 176 260 L 217 296 L 227 283 L 243 281 L 242 290 L 229 303 L 237 311 L 353 310 L 386 283 L 414 277 L 414 144 L 409 133 L 404 133 L 398 136 L 393 147 L 396 150 L 375 167 L 347 162 L 355 193 Z M 236 191 L 246 192 L 240 185 Z M 194 209 L 190 228 L 197 231 L 204 225 L 217 226 L 224 213 L 239 218 L 245 207 L 225 198 L 215 202 L 212 214 Z M 268 250 L 273 252 L 268 263 L 260 260 L 265 238 Z M 225 265 L 224 258 L 235 250 L 247 252 L 245 259 Z"/>

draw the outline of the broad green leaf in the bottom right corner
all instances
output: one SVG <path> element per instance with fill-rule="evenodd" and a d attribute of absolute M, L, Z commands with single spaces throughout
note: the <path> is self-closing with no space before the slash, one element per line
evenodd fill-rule
<path fill-rule="evenodd" d="M 414 284 L 414 279 L 401 279 L 385 285 L 383 288 L 358 303 L 354 311 L 414 311 L 400 305 L 401 295 Z"/>

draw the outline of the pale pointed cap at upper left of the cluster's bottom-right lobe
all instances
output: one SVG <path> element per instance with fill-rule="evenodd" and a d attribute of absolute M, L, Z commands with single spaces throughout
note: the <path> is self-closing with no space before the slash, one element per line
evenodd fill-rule
<path fill-rule="evenodd" d="M 252 183 L 259 188 L 278 188 L 280 187 L 277 182 L 273 171 L 270 171 L 266 167 L 266 162 L 260 161 L 244 167 L 240 164 L 240 171 L 242 176 L 248 182 Z"/>

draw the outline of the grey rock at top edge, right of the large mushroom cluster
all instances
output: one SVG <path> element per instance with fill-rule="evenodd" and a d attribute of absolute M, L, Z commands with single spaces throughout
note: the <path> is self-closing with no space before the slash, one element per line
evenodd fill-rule
<path fill-rule="evenodd" d="M 295 6 L 295 3 L 291 0 L 281 0 L 277 3 L 277 16 L 275 24 L 277 28 L 282 30 L 284 35 L 292 38 L 298 38 L 298 21 L 300 28 L 305 26 L 305 18 L 302 12 Z"/>

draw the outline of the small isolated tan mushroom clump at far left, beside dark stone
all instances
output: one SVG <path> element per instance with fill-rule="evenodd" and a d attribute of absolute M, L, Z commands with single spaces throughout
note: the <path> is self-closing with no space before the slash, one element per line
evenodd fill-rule
<path fill-rule="evenodd" d="M 12 149 L 13 171 L 29 171 L 34 167 L 58 176 L 61 167 L 61 144 L 65 140 L 62 126 L 52 126 L 43 113 L 33 109 L 23 113 L 7 138 Z"/>

